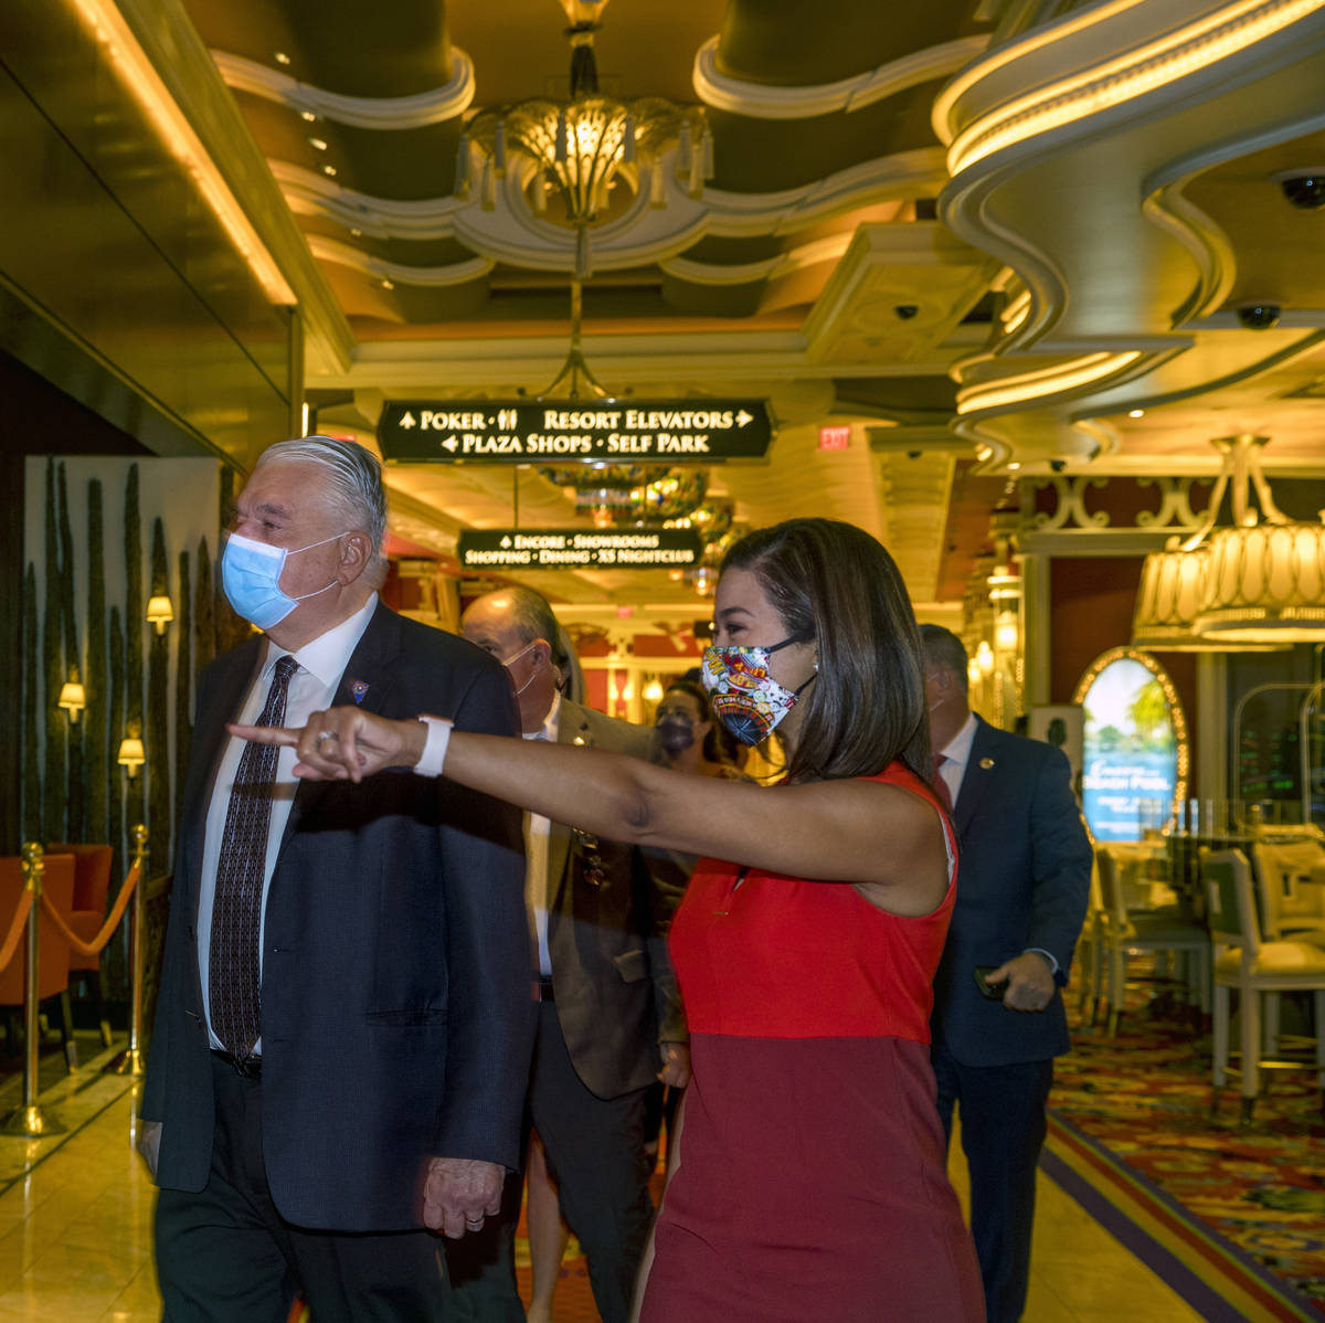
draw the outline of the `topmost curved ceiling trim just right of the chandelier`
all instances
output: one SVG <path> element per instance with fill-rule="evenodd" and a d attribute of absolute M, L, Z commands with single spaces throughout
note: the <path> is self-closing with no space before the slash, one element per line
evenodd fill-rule
<path fill-rule="evenodd" d="M 733 78 L 718 66 L 718 37 L 710 37 L 694 54 L 696 95 L 714 110 L 750 119 L 812 119 L 840 111 L 864 110 L 935 78 L 946 78 L 970 64 L 988 46 L 988 36 L 958 37 L 890 60 L 877 69 L 836 82 L 812 86 L 775 86 Z"/>

